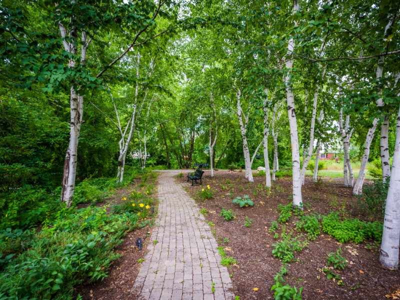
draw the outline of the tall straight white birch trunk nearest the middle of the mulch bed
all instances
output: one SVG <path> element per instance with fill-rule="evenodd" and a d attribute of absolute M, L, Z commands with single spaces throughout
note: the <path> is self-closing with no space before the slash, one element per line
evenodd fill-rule
<path fill-rule="evenodd" d="M 293 12 L 297 12 L 300 8 L 299 1 L 293 0 Z M 295 22 L 297 25 L 297 22 Z M 291 68 L 293 66 L 293 60 L 291 54 L 294 50 L 294 41 L 290 37 L 287 43 L 287 57 L 290 57 L 286 61 L 286 75 L 284 76 L 284 83 L 286 86 L 286 102 L 287 102 L 287 115 L 289 118 L 290 127 L 290 141 L 291 141 L 291 161 L 292 161 L 292 173 L 293 173 L 293 206 L 302 209 L 302 196 L 301 196 L 301 176 L 300 176 L 300 153 L 298 146 L 298 133 L 297 133 L 297 120 L 296 112 L 294 107 L 294 94 L 291 84 Z"/>

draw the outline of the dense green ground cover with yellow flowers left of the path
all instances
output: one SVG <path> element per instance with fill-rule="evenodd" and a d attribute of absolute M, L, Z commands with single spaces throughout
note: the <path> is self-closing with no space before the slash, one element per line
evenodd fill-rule
<path fill-rule="evenodd" d="M 151 182 L 156 178 L 146 170 L 128 172 L 129 181 L 123 184 L 113 184 L 110 178 L 84 180 L 77 185 L 84 200 L 70 208 L 43 195 L 42 201 L 51 203 L 47 214 L 29 222 L 18 221 L 11 213 L 0 230 L 0 298 L 72 299 L 76 285 L 107 277 L 111 263 L 121 257 L 115 248 L 124 236 L 147 231 L 149 217 L 155 215 L 157 202 L 148 193 L 153 185 L 145 192 L 139 187 L 141 178 L 149 176 Z M 37 193 L 31 194 L 35 200 Z"/>

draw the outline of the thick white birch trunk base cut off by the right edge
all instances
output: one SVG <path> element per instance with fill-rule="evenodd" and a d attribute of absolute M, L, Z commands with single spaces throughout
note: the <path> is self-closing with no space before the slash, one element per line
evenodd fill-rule
<path fill-rule="evenodd" d="M 389 190 L 384 210 L 383 235 L 380 246 L 380 263 L 389 269 L 398 268 L 400 243 L 400 107 L 397 114 L 396 141 L 391 166 Z"/>

